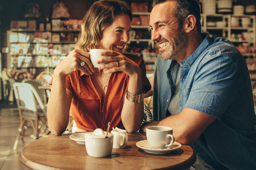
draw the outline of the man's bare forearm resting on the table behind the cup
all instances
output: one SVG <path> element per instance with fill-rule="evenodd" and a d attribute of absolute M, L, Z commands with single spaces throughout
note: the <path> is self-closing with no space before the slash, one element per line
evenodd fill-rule
<path fill-rule="evenodd" d="M 204 129 L 215 121 L 216 118 L 203 112 L 184 108 L 181 113 L 169 116 L 158 122 L 144 123 L 140 131 L 146 132 L 148 126 L 168 126 L 173 129 L 175 141 L 190 144 L 197 140 Z"/>

